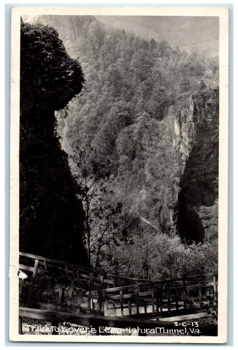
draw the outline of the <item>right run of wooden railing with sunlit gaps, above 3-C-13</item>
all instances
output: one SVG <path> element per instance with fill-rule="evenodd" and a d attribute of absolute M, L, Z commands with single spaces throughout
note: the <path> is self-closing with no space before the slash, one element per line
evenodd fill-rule
<path fill-rule="evenodd" d="M 163 281 L 131 284 L 92 291 L 97 295 L 97 312 L 113 316 L 149 318 L 178 315 L 203 309 L 218 299 L 217 272 Z M 206 279 L 205 279 L 206 278 Z M 208 279 L 208 280 L 207 280 Z"/>

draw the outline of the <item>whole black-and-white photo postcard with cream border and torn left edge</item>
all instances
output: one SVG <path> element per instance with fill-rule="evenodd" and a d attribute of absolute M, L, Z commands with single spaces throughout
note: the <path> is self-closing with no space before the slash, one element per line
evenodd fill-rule
<path fill-rule="evenodd" d="M 11 341 L 227 341 L 229 10 L 12 7 Z"/>

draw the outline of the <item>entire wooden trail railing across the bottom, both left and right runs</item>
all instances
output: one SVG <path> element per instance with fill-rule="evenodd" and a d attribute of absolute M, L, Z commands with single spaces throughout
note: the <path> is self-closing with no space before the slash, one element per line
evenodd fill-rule
<path fill-rule="evenodd" d="M 19 253 L 21 307 L 116 317 L 156 318 L 198 311 L 218 300 L 218 273 L 170 280 L 122 277 Z"/>

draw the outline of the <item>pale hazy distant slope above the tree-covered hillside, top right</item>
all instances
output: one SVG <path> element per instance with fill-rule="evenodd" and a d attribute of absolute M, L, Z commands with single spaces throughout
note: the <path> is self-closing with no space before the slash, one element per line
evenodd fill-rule
<path fill-rule="evenodd" d="M 207 16 L 96 16 L 116 28 L 133 31 L 145 39 L 168 41 L 188 52 L 216 55 L 219 52 L 219 17 Z"/>

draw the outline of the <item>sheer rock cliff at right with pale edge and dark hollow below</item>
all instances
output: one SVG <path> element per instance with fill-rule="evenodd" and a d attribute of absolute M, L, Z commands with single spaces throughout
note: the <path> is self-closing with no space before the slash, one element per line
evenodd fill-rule
<path fill-rule="evenodd" d="M 190 110 L 177 117 L 176 129 L 183 168 L 177 225 L 181 237 L 197 243 L 205 236 L 199 208 L 218 198 L 219 89 L 192 95 Z"/>

